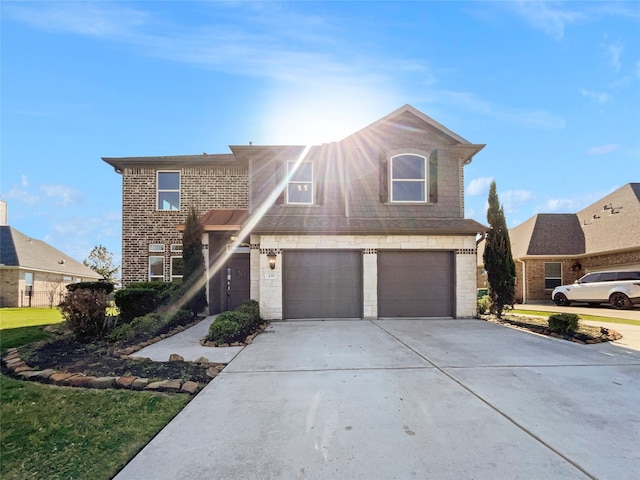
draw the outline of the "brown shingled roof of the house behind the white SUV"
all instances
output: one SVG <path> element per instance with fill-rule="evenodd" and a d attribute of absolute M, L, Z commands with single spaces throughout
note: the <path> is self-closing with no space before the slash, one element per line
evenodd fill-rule
<path fill-rule="evenodd" d="M 509 230 L 514 258 L 640 249 L 640 183 L 628 183 L 578 213 L 542 213 Z"/>

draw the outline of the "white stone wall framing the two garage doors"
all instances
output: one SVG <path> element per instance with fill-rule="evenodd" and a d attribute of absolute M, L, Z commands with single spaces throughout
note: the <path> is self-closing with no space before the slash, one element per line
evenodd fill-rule
<path fill-rule="evenodd" d="M 285 249 L 362 249 L 363 313 L 378 317 L 378 250 L 454 250 L 456 317 L 476 315 L 475 236 L 429 235 L 252 235 L 251 298 L 260 302 L 260 313 L 267 320 L 282 319 L 282 258 Z M 368 249 L 368 251 L 364 251 Z M 269 269 L 267 252 L 278 253 L 275 270 Z"/>

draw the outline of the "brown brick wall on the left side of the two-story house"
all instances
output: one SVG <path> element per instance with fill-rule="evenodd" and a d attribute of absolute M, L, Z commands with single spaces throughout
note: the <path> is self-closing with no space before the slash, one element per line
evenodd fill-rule
<path fill-rule="evenodd" d="M 180 210 L 156 210 L 156 172 L 180 171 Z M 214 208 L 248 208 L 245 168 L 126 168 L 122 172 L 122 283 L 149 278 L 149 244 L 165 245 L 164 279 L 170 280 L 171 244 L 182 243 L 177 226 L 191 207 L 198 215 Z M 162 255 L 157 253 L 155 255 Z M 180 255 L 173 253 L 173 255 Z"/>

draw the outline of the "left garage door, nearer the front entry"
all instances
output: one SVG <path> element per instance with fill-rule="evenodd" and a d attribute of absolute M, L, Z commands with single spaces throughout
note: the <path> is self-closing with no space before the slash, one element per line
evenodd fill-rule
<path fill-rule="evenodd" d="M 284 318 L 362 318 L 362 252 L 286 250 Z"/>

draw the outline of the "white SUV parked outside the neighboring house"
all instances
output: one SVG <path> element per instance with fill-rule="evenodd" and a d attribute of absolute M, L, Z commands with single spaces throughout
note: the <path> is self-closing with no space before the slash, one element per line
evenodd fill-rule
<path fill-rule="evenodd" d="M 613 308 L 631 308 L 640 303 L 640 270 L 594 272 L 553 289 L 556 305 L 571 302 L 609 303 Z"/>

